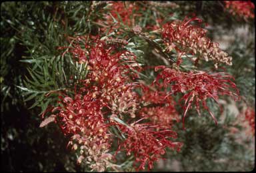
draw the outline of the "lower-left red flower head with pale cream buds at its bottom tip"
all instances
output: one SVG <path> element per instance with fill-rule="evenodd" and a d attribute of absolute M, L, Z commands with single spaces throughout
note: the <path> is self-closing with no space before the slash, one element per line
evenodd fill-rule
<path fill-rule="evenodd" d="M 57 121 L 64 134 L 71 134 L 68 146 L 77 150 L 78 164 L 85 160 L 93 170 L 102 172 L 107 168 L 112 155 L 107 153 L 111 147 L 111 134 L 107 131 L 107 120 L 101 112 L 99 100 L 92 100 L 91 94 L 76 94 L 74 100 L 65 96 L 59 110 Z"/>

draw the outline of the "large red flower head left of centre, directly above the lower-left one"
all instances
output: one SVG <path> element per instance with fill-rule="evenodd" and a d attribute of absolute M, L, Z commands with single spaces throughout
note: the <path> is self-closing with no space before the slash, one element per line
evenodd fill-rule
<path fill-rule="evenodd" d="M 88 64 L 89 73 L 88 78 L 83 81 L 85 87 L 82 90 L 88 90 L 89 87 L 95 88 L 93 98 L 107 102 L 107 107 L 112 112 L 129 113 L 134 118 L 137 94 L 133 89 L 137 84 L 131 79 L 137 78 L 137 74 L 133 71 L 140 71 L 140 67 L 135 62 L 136 57 L 133 53 L 129 51 L 113 53 L 114 47 L 111 45 L 109 49 L 105 49 L 106 46 L 100 41 L 96 47 L 89 48 L 89 55 L 87 55 L 89 61 L 85 61 Z"/>

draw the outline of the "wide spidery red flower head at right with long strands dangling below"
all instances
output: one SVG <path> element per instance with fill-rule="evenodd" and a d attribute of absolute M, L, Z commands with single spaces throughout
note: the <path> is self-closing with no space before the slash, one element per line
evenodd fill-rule
<path fill-rule="evenodd" d="M 232 82 L 233 77 L 226 73 L 208 74 L 204 71 L 190 71 L 189 73 L 176 71 L 165 67 L 157 67 L 155 70 L 163 69 L 155 79 L 155 83 L 163 88 L 169 87 L 169 94 L 183 93 L 181 100 L 185 100 L 183 127 L 185 116 L 192 104 L 195 104 L 196 110 L 200 115 L 200 102 L 203 108 L 211 114 L 215 123 L 217 120 L 206 104 L 207 98 L 213 98 L 219 104 L 219 95 L 229 95 L 235 100 L 239 98 L 239 90 L 235 83 Z"/>

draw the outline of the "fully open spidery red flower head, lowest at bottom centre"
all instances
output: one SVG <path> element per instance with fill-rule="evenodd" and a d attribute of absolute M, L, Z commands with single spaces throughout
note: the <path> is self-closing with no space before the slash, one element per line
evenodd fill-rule
<path fill-rule="evenodd" d="M 137 120 L 137 122 L 139 121 Z M 153 162 L 165 154 L 165 148 L 177 151 L 181 149 L 183 145 L 181 142 L 169 140 L 169 138 L 177 138 L 177 133 L 173 130 L 163 128 L 159 124 L 138 124 L 137 122 L 133 122 L 129 127 L 119 124 L 120 130 L 126 138 L 118 148 L 118 150 L 125 150 L 128 156 L 134 154 L 133 166 L 137 166 L 137 170 L 144 170 L 146 165 L 152 169 Z"/>

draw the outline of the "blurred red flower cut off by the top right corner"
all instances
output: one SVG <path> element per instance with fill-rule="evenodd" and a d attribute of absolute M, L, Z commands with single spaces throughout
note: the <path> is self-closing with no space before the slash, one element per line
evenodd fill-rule
<path fill-rule="evenodd" d="M 226 9 L 232 15 L 238 15 L 239 17 L 244 17 L 245 19 L 254 19 L 254 9 L 255 6 L 251 1 L 224 1 Z"/>

